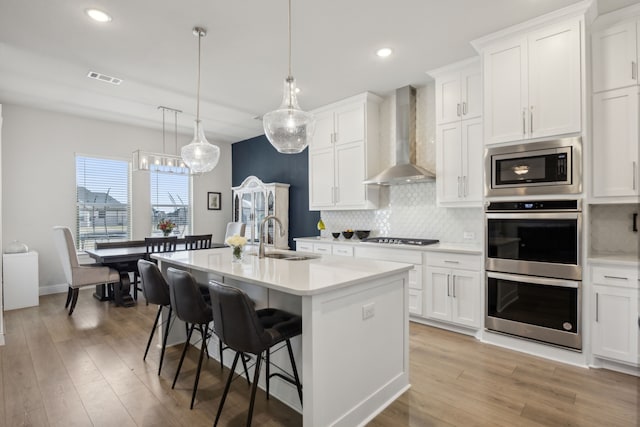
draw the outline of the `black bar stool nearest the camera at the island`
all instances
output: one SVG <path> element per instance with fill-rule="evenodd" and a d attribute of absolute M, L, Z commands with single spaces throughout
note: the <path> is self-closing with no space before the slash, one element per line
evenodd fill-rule
<path fill-rule="evenodd" d="M 260 378 L 262 354 L 266 352 L 268 355 L 271 347 L 283 341 L 286 342 L 287 349 L 289 350 L 289 360 L 291 361 L 294 379 L 292 380 L 279 374 L 278 376 L 296 385 L 300 403 L 302 403 L 302 385 L 298 377 L 298 370 L 293 358 L 290 342 L 291 338 L 302 334 L 302 318 L 295 314 L 273 308 L 255 310 L 253 308 L 253 302 L 242 290 L 223 285 L 214 280 L 209 282 L 209 292 L 211 293 L 214 332 L 225 345 L 236 351 L 236 356 L 233 359 L 231 371 L 229 372 L 229 377 L 227 378 L 227 383 L 213 425 L 216 426 L 218 424 L 235 373 L 238 358 L 244 353 L 256 355 L 251 400 L 249 402 L 249 413 L 247 415 L 247 426 L 251 425 L 258 379 Z M 244 357 L 242 359 L 244 360 Z M 269 389 L 269 380 L 274 375 L 269 375 L 267 371 L 267 390 Z"/>

